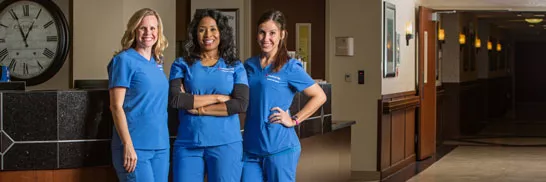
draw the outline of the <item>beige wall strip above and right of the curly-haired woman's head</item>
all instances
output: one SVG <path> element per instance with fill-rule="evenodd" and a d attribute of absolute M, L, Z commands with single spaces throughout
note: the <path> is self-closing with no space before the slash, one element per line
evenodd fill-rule
<path fill-rule="evenodd" d="M 239 9 L 239 39 L 240 44 L 240 59 L 245 60 L 251 55 L 251 44 L 255 42 L 250 41 L 250 0 L 191 0 L 191 17 L 196 9 L 215 8 L 215 9 Z"/>

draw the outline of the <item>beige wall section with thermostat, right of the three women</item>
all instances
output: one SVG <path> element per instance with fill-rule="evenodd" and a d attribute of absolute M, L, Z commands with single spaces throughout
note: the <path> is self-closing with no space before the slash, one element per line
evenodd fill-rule
<path fill-rule="evenodd" d="M 382 1 L 326 1 L 328 78 L 332 83 L 333 120 L 355 120 L 352 127 L 351 168 L 377 169 L 377 101 L 381 98 Z M 358 21 L 355 21 L 355 18 Z M 350 28 L 349 28 L 350 27 Z M 335 56 L 335 37 L 354 38 L 354 56 Z M 365 70 L 365 84 L 357 84 L 357 70 Z M 345 73 L 353 75 L 345 82 Z"/>

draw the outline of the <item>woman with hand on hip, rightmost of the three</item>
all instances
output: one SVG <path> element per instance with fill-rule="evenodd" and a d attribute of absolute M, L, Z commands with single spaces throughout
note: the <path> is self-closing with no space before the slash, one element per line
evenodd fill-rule
<path fill-rule="evenodd" d="M 250 87 L 243 134 L 243 182 L 296 181 L 300 142 L 294 126 L 311 116 L 326 95 L 305 72 L 300 61 L 288 57 L 286 20 L 270 10 L 258 20 L 261 54 L 245 61 Z M 310 100 L 290 115 L 296 92 Z"/>

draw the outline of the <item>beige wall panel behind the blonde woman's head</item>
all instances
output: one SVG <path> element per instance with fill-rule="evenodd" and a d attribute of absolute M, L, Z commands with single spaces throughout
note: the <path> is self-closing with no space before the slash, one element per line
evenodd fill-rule
<path fill-rule="evenodd" d="M 106 66 L 121 48 L 121 37 L 130 16 L 140 8 L 152 8 L 161 15 L 163 33 L 170 46 L 165 50 L 165 73 L 175 56 L 175 0 L 73 0 L 74 79 L 108 79 Z M 100 9 L 100 13 L 97 10 Z"/>

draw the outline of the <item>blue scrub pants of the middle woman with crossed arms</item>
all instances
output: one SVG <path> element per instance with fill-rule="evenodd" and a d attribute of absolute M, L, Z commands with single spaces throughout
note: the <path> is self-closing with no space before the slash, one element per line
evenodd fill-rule
<path fill-rule="evenodd" d="M 174 146 L 173 181 L 240 182 L 243 144 L 235 142 L 212 147 Z"/>

